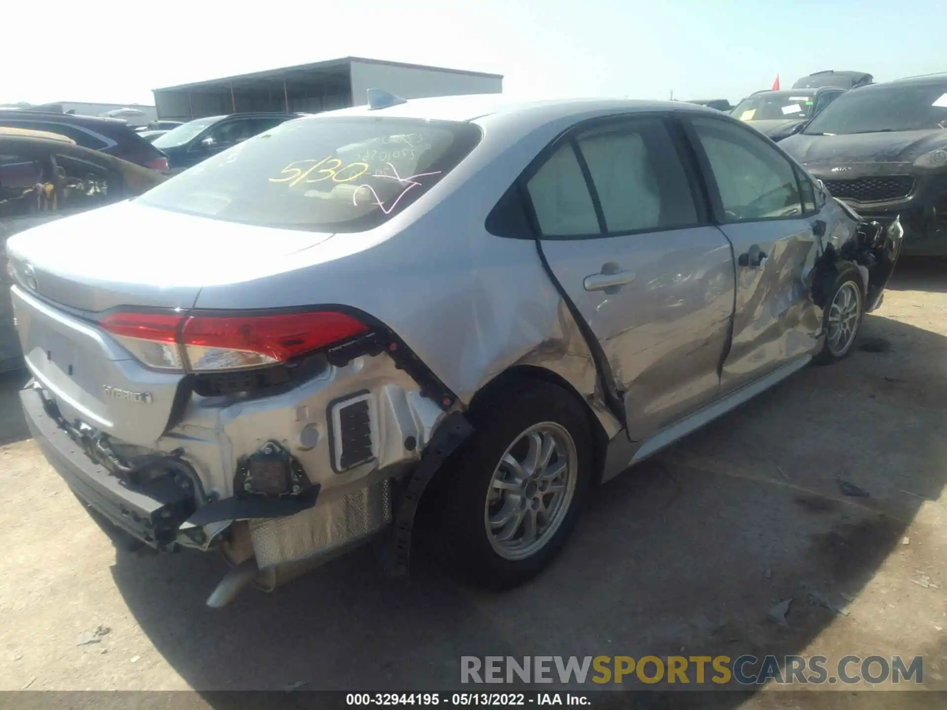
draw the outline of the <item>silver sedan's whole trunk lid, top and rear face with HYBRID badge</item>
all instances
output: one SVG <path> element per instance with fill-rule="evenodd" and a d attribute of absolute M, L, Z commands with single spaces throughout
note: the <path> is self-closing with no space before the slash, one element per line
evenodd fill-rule
<path fill-rule="evenodd" d="M 184 374 L 141 364 L 98 328 L 100 312 L 186 311 L 202 286 L 291 269 L 291 255 L 330 237 L 130 202 L 21 232 L 7 247 L 27 366 L 67 420 L 150 446 L 169 425 Z"/>

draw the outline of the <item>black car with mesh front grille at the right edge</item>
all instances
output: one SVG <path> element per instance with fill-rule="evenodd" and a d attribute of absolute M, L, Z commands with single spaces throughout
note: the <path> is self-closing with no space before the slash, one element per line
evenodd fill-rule
<path fill-rule="evenodd" d="M 852 89 L 779 147 L 864 218 L 900 214 L 904 254 L 947 256 L 947 74 Z"/>

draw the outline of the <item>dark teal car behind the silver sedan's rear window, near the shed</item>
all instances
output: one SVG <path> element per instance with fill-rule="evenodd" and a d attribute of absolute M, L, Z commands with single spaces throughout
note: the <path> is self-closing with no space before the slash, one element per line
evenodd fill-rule
<path fill-rule="evenodd" d="M 158 136 L 153 145 L 168 156 L 171 170 L 186 169 L 297 116 L 260 113 L 195 118 Z"/>

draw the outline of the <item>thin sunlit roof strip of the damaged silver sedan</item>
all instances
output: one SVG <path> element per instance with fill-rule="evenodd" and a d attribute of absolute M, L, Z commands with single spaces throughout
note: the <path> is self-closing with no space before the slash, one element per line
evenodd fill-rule
<path fill-rule="evenodd" d="M 550 98 L 540 101 L 523 101 L 502 94 L 468 94 L 455 97 L 413 98 L 403 103 L 382 109 L 353 106 L 329 111 L 325 115 L 370 115 L 398 116 L 403 118 L 432 118 L 436 120 L 472 121 L 487 115 L 538 112 L 545 117 L 570 115 L 577 111 L 615 110 L 616 112 L 643 111 L 695 111 L 712 112 L 698 104 L 685 101 L 648 101 L 628 98 Z"/>

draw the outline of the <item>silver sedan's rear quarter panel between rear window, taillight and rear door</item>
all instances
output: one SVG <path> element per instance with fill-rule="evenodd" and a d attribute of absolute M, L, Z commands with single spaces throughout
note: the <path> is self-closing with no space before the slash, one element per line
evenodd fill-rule
<path fill-rule="evenodd" d="M 588 347 L 545 275 L 535 243 L 494 237 L 485 226 L 516 175 L 581 116 L 539 128 L 528 115 L 490 118 L 484 141 L 468 158 L 389 222 L 297 252 L 282 273 L 208 285 L 195 308 L 340 304 L 391 328 L 464 404 L 516 364 L 552 370 L 595 400 Z M 521 122 L 522 132 L 504 126 L 491 133 L 503 121 Z M 351 386 L 360 387 L 358 378 Z M 614 435 L 615 418 L 593 407 Z"/>

